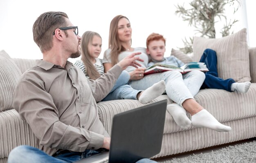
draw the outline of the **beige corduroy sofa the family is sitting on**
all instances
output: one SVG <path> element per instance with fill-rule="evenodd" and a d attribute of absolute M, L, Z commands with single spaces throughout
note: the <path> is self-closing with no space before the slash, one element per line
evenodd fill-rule
<path fill-rule="evenodd" d="M 195 96 L 197 102 L 219 122 L 231 126 L 232 130 L 227 133 L 194 127 L 183 130 L 166 112 L 162 150 L 153 158 L 256 137 L 256 48 L 249 48 L 249 62 L 247 71 L 250 72 L 252 85 L 246 94 L 204 89 Z M 37 147 L 36 137 L 29 125 L 20 119 L 11 106 L 12 94 L 20 75 L 34 64 L 35 60 L 10 58 L 6 52 L 0 51 L 0 163 L 7 162 L 9 152 L 16 146 L 26 144 Z M 152 102 L 163 99 L 168 99 L 168 104 L 172 103 L 166 95 Z M 108 133 L 111 133 L 112 117 L 115 114 L 142 105 L 137 100 L 99 102 L 99 117 Z"/>

